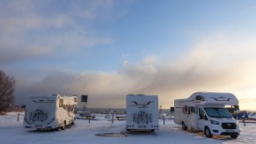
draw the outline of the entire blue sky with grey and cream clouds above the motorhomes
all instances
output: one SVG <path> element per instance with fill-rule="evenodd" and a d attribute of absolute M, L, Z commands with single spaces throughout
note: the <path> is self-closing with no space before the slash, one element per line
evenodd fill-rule
<path fill-rule="evenodd" d="M 255 25 L 253 0 L 0 0 L 0 68 L 15 104 L 60 93 L 123 108 L 146 94 L 170 108 L 212 91 L 256 110 Z"/>

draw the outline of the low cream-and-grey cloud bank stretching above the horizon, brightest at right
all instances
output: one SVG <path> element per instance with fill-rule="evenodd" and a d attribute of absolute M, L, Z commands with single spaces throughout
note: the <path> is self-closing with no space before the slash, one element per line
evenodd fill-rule
<path fill-rule="evenodd" d="M 151 55 L 139 63 L 125 61 L 113 73 L 48 70 L 40 80 L 18 82 L 17 98 L 58 92 L 87 94 L 90 107 L 125 107 L 127 94 L 143 93 L 157 94 L 159 105 L 169 108 L 174 99 L 195 91 L 223 91 L 237 95 L 241 107 L 248 109 L 246 103 L 254 97 L 256 83 L 253 38 L 217 33 L 201 39 L 176 60 L 158 61 Z"/>

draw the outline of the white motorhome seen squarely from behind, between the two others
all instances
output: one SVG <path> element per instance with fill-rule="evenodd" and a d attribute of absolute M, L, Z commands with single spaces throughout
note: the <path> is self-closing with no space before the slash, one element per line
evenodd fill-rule
<path fill-rule="evenodd" d="M 151 131 L 159 129 L 158 97 L 145 95 L 128 95 L 127 131 Z"/>

